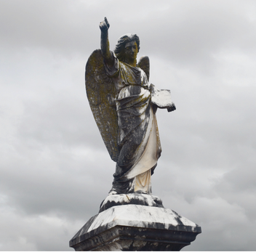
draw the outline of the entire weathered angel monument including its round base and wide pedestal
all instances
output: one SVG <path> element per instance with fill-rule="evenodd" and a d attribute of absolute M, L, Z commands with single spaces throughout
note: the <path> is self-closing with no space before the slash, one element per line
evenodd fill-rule
<path fill-rule="evenodd" d="M 151 195 L 151 175 L 161 155 L 157 108 L 176 107 L 169 90 L 149 84 L 149 59 L 140 58 L 136 34 L 109 49 L 108 20 L 100 23 L 101 49 L 86 66 L 86 89 L 108 153 L 116 162 L 113 185 L 93 216 L 70 241 L 76 251 L 179 251 L 201 227 L 164 208 Z"/>

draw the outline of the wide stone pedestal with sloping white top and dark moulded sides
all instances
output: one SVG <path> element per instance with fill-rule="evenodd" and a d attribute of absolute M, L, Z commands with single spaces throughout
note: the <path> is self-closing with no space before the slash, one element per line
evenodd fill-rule
<path fill-rule="evenodd" d="M 201 227 L 168 208 L 113 206 L 93 216 L 71 239 L 76 251 L 180 251 Z"/>

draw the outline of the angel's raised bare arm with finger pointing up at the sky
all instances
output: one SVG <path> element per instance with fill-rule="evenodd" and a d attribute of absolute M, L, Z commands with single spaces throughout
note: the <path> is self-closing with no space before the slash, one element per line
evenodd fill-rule
<path fill-rule="evenodd" d="M 100 49 L 101 53 L 103 54 L 103 58 L 105 62 L 108 65 L 113 65 L 114 59 L 113 59 L 113 54 L 111 53 L 109 49 L 109 41 L 108 41 L 108 28 L 109 28 L 109 23 L 107 20 L 107 17 L 103 20 L 103 22 L 100 22 Z"/>

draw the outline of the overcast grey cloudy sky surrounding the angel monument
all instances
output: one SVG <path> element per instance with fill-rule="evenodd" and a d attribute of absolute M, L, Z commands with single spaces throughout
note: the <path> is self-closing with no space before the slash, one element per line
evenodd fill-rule
<path fill-rule="evenodd" d="M 72 251 L 115 163 L 89 109 L 84 65 L 140 36 L 162 155 L 153 195 L 202 228 L 184 251 L 255 251 L 256 1 L 0 1 L 0 250 Z"/>

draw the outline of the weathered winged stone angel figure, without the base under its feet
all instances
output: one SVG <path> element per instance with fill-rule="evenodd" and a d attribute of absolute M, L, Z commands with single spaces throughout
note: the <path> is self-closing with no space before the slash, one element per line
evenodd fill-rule
<path fill-rule="evenodd" d="M 156 109 L 175 110 L 169 90 L 149 84 L 149 59 L 137 63 L 140 39 L 119 38 L 113 52 L 107 18 L 100 23 L 100 46 L 86 66 L 89 105 L 105 146 L 116 162 L 109 195 L 151 194 L 151 175 L 161 155 Z"/>

